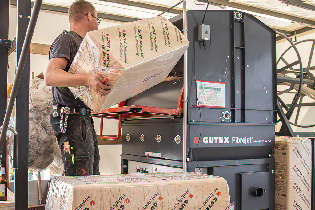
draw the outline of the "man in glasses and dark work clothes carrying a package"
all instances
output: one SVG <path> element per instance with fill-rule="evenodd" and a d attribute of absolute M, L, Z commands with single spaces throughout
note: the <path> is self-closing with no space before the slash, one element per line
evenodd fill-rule
<path fill-rule="evenodd" d="M 68 87 L 89 86 L 100 96 L 111 91 L 100 75 L 68 73 L 69 67 L 87 32 L 97 30 L 100 20 L 95 7 L 83 0 L 69 8 L 70 31 L 63 31 L 52 43 L 45 83 L 53 87 L 53 113 L 50 116 L 54 134 L 61 149 L 66 176 L 97 175 L 100 154 L 91 110 L 75 99 Z"/>

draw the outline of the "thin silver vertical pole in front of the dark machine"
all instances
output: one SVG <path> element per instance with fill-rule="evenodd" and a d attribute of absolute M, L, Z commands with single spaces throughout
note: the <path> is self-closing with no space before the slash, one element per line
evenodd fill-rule
<path fill-rule="evenodd" d="M 186 0 L 183 1 L 183 24 L 184 36 L 187 37 L 187 10 Z M 187 171 L 187 90 L 188 90 L 188 73 L 187 73 L 187 50 L 184 53 L 184 122 L 183 122 L 183 171 Z"/>

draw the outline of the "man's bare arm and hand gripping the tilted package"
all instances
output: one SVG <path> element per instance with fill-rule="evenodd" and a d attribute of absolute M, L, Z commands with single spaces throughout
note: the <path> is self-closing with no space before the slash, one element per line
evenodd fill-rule
<path fill-rule="evenodd" d="M 89 86 L 100 96 L 111 92 L 112 87 L 102 84 L 104 78 L 98 74 L 71 74 L 64 71 L 63 69 L 66 68 L 68 62 L 65 58 L 52 58 L 49 60 L 44 77 L 46 85 L 63 88 Z"/>

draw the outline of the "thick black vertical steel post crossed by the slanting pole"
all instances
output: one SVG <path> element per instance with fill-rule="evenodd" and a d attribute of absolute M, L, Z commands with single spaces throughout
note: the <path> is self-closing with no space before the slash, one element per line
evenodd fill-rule
<path fill-rule="evenodd" d="M 31 0 L 18 0 L 16 24 L 16 67 L 20 60 L 27 26 L 31 16 Z M 21 58 L 22 59 L 22 58 Z M 14 209 L 28 208 L 28 118 L 29 118 L 30 54 L 27 58 L 16 95 L 16 130 L 19 133 L 18 165 L 14 171 Z"/>

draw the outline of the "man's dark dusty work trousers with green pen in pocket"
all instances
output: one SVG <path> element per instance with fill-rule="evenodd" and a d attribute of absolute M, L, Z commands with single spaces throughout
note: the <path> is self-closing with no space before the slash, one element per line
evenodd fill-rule
<path fill-rule="evenodd" d="M 92 117 L 69 114 L 65 133 L 60 131 L 60 116 L 51 114 L 50 124 L 61 149 L 66 176 L 99 175 L 100 152 Z M 66 141 L 70 148 L 73 147 L 74 163 L 72 156 L 64 150 L 63 143 Z"/>

